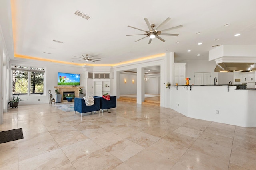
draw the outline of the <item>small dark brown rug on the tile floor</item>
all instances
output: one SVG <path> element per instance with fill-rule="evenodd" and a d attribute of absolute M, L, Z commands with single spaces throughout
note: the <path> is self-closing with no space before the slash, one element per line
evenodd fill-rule
<path fill-rule="evenodd" d="M 22 128 L 0 132 L 0 143 L 23 139 Z"/>

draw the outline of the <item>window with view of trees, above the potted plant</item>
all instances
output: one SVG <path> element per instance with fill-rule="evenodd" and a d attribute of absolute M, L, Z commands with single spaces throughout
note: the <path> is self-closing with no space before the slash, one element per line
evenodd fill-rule
<path fill-rule="evenodd" d="M 44 68 L 12 66 L 12 94 L 44 94 Z"/>

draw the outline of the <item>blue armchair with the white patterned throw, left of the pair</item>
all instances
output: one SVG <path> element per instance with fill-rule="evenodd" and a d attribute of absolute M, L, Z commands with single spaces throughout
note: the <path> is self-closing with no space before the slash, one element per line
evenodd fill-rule
<path fill-rule="evenodd" d="M 82 117 L 82 113 L 88 113 L 88 112 L 91 112 L 92 111 L 99 111 L 100 113 L 100 98 L 99 97 L 93 97 L 94 98 L 94 105 L 92 106 L 86 106 L 85 104 L 85 101 L 83 98 L 77 98 L 75 97 L 75 114 L 76 114 L 76 111 L 81 113 L 81 117 Z M 91 113 L 88 113 L 88 114 L 91 114 Z M 88 115 L 87 114 L 87 115 Z"/>

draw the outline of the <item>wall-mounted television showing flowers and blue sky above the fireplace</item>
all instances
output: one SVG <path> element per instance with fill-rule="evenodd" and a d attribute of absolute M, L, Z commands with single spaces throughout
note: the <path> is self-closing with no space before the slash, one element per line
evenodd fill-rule
<path fill-rule="evenodd" d="M 58 85 L 80 85 L 80 74 L 58 72 Z"/>

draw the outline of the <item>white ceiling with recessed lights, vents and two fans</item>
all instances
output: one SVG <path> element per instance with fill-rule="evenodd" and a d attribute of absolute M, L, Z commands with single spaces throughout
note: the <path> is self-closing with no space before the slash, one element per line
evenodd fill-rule
<path fill-rule="evenodd" d="M 14 53 L 58 61 L 84 63 L 72 56 L 97 56 L 91 64 L 116 64 L 159 53 L 175 52 L 175 61 L 208 60 L 213 45 L 256 45 L 256 0 L 14 0 Z M 76 10 L 90 16 L 76 16 Z M 162 29 L 183 25 L 149 37 L 143 18 Z M 224 27 L 224 24 L 230 24 Z M 2 26 L 3 27 L 3 26 Z M 201 34 L 196 34 L 202 32 Z M 235 37 L 236 33 L 241 35 Z M 215 39 L 219 39 L 215 41 Z M 62 41 L 55 43 L 52 40 Z M 175 43 L 179 41 L 179 43 Z M 202 42 L 202 45 L 198 45 Z M 191 52 L 187 52 L 187 50 Z M 51 54 L 46 54 L 46 53 Z M 197 55 L 200 54 L 198 57 Z"/>

